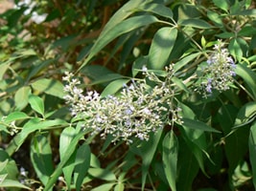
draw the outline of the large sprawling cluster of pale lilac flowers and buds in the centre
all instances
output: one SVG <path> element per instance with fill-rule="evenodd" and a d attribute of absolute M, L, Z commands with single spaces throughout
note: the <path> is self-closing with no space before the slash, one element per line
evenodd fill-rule
<path fill-rule="evenodd" d="M 101 97 L 97 92 L 82 95 L 78 88 L 80 81 L 73 74 L 66 74 L 64 98 L 71 105 L 71 114 L 81 118 L 84 128 L 91 128 L 92 134 L 103 138 L 111 134 L 116 140 L 132 142 L 132 137 L 148 140 L 149 133 L 163 128 L 166 124 L 181 123 L 180 109 L 175 107 L 174 86 L 171 83 L 172 67 L 167 68 L 165 80 L 143 68 L 145 79 L 132 79 L 124 85 L 117 96 Z M 154 83 L 151 87 L 147 80 Z M 171 116 L 171 117 L 170 117 Z"/>

